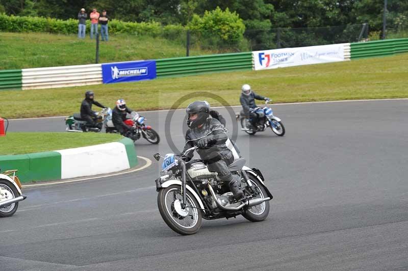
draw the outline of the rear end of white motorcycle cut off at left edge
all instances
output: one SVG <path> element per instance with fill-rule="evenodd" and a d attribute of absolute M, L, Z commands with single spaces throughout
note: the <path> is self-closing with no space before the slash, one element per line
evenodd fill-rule
<path fill-rule="evenodd" d="M 21 183 L 16 172 L 6 170 L 0 174 L 0 218 L 12 216 L 17 211 L 18 202 L 27 198 L 21 193 Z"/>

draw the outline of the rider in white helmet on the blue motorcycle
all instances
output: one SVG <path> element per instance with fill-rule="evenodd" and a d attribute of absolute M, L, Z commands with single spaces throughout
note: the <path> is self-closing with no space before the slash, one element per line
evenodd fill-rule
<path fill-rule="evenodd" d="M 246 117 L 251 118 L 251 124 L 253 129 L 262 129 L 263 125 L 258 125 L 260 127 L 257 127 L 258 121 L 260 120 L 261 117 L 264 116 L 262 113 L 262 116 L 260 113 L 255 112 L 255 108 L 258 107 L 257 104 L 255 103 L 255 99 L 257 100 L 265 100 L 269 101 L 270 99 L 261 95 L 256 94 L 251 90 L 251 87 L 247 84 L 243 85 L 242 88 L 242 93 L 239 101 L 241 102 L 242 109 L 244 111 L 244 115 Z"/>

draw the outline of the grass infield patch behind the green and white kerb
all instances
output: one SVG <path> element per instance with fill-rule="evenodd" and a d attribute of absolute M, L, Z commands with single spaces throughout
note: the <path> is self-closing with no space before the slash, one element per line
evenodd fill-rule
<path fill-rule="evenodd" d="M 27 154 L 119 141 L 119 134 L 71 132 L 8 132 L 0 137 L 0 155 Z M 25 144 L 30 142 L 30 144 Z"/>

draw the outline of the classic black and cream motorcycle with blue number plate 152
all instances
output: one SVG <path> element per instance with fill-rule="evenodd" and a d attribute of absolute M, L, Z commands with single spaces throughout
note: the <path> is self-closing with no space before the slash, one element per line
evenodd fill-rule
<path fill-rule="evenodd" d="M 269 201 L 272 194 L 265 186 L 262 173 L 245 166 L 245 159 L 235 160 L 228 170 L 241 176 L 244 197 L 236 201 L 227 183 L 210 172 L 206 162 L 200 159 L 185 161 L 186 155 L 169 153 L 164 158 L 162 175 L 156 179 L 157 202 L 160 214 L 173 231 L 189 235 L 196 233 L 202 219 L 214 220 L 232 218 L 242 214 L 249 221 L 263 221 L 269 214 Z M 165 174 L 165 175 L 164 175 Z"/>

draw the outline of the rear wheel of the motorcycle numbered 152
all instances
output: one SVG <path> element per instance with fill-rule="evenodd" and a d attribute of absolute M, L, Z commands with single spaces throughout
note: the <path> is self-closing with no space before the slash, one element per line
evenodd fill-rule
<path fill-rule="evenodd" d="M 246 192 L 249 194 L 256 194 L 252 199 L 261 198 L 264 199 L 267 197 L 265 188 L 262 186 L 260 181 L 253 176 L 248 176 L 249 181 L 252 184 L 252 191 L 248 186 L 245 187 Z M 261 204 L 249 207 L 242 215 L 249 221 L 257 222 L 263 221 L 267 218 L 269 214 L 269 201 L 264 201 Z"/>

